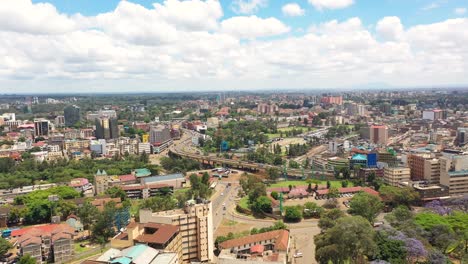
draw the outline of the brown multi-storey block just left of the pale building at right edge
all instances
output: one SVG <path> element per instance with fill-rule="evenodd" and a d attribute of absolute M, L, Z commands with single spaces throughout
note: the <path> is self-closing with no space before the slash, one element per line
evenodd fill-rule
<path fill-rule="evenodd" d="M 411 169 L 411 180 L 440 183 L 440 163 L 431 154 L 408 155 L 408 165 Z"/>

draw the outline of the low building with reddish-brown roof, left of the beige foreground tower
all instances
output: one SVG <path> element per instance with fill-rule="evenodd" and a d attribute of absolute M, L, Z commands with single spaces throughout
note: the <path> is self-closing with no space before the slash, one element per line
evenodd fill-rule
<path fill-rule="evenodd" d="M 132 222 L 110 242 L 111 247 L 117 249 L 145 244 L 163 252 L 174 252 L 177 263 L 182 261 L 182 235 L 176 225 Z"/>

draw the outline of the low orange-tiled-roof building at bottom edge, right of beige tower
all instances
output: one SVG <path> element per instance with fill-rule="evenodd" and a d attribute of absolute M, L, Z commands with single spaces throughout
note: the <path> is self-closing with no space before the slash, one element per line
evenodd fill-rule
<path fill-rule="evenodd" d="M 231 239 L 219 244 L 219 263 L 287 263 L 289 231 L 275 230 L 242 238 Z"/>

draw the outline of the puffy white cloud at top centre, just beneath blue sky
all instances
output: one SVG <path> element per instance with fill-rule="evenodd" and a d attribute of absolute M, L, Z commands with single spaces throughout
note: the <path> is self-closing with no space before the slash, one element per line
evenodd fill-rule
<path fill-rule="evenodd" d="M 221 30 L 238 38 L 252 39 L 283 34 L 290 29 L 273 17 L 239 16 L 222 21 Z"/>

